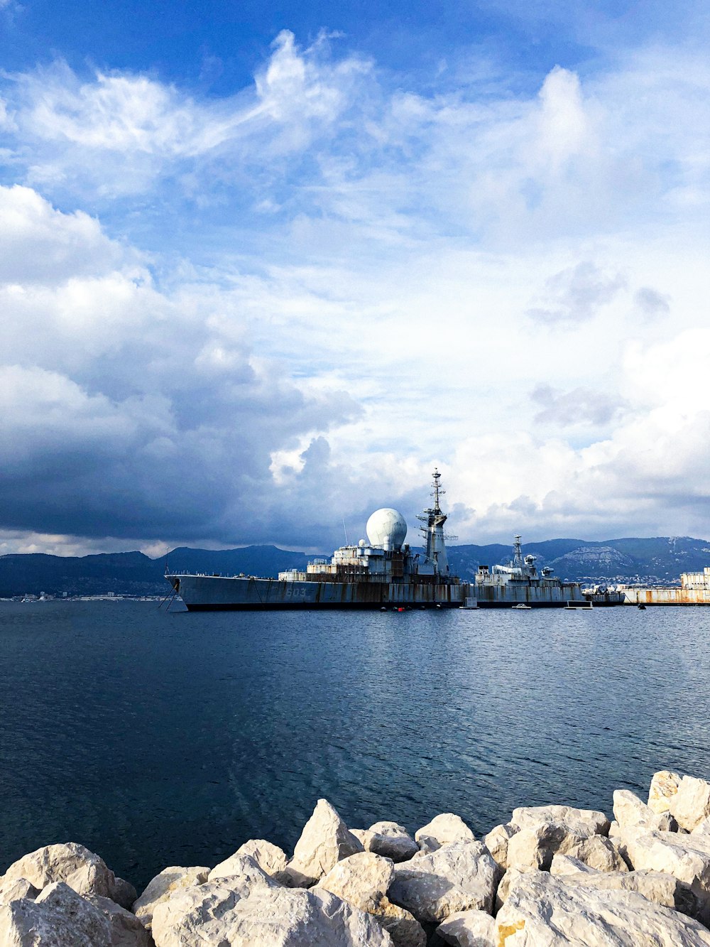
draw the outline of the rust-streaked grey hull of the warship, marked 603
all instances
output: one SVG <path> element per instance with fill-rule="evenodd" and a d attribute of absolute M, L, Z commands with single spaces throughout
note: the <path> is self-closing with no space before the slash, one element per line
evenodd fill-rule
<path fill-rule="evenodd" d="M 475 597 L 479 608 L 563 608 L 583 601 L 578 585 L 521 583 L 481 586 L 467 582 L 311 582 L 241 577 L 168 576 L 190 612 L 298 611 L 304 609 L 461 608 Z"/>

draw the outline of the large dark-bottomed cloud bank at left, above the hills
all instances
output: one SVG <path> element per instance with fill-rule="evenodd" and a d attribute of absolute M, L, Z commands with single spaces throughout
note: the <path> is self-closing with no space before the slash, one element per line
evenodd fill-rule
<path fill-rule="evenodd" d="M 311 432 L 321 443 L 356 402 L 283 377 L 254 356 L 229 295 L 162 293 L 85 215 L 27 188 L 0 188 L 0 208 L 0 522 L 217 541 L 275 529 L 272 452 Z M 258 525 L 235 496 L 261 506 Z"/>

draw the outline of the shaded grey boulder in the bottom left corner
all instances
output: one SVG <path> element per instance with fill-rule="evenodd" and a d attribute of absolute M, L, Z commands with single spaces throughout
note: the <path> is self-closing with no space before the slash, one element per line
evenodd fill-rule
<path fill-rule="evenodd" d="M 111 925 L 93 904 L 63 882 L 46 884 L 35 899 L 0 906 L 3 947 L 111 947 Z"/>

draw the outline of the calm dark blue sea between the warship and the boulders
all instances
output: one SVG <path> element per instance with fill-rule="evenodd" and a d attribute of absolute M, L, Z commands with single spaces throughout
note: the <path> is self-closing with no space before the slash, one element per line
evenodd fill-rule
<path fill-rule="evenodd" d="M 214 613 L 0 603 L 0 872 L 77 841 L 139 889 L 247 838 L 611 811 L 710 776 L 710 609 Z"/>

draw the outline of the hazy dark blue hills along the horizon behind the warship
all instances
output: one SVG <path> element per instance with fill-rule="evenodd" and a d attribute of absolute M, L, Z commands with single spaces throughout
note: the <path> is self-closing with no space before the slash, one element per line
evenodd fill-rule
<path fill-rule="evenodd" d="M 677 582 L 682 572 L 710 565 L 710 542 L 687 536 L 655 539 L 612 539 L 590 542 L 553 539 L 524 545 L 524 553 L 538 557 L 538 566 L 551 566 L 561 579 L 571 581 Z M 470 579 L 479 565 L 507 563 L 510 545 L 453 545 L 449 561 L 462 579 Z M 282 569 L 303 569 L 311 556 L 275 545 L 241 549 L 174 549 L 169 566 L 176 571 L 218 572 L 222 575 L 276 576 Z M 0 598 L 18 595 L 161 595 L 169 586 L 163 574 L 165 558 L 150 559 L 142 552 L 114 552 L 94 556 L 62 557 L 39 553 L 0 556 Z"/>

